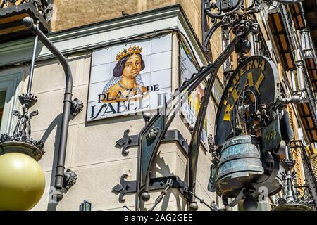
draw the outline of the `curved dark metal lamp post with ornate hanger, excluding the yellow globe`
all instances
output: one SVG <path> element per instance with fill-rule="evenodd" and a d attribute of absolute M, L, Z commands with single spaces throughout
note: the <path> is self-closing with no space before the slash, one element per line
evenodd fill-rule
<path fill-rule="evenodd" d="M 31 137 L 30 120 L 35 115 L 38 115 L 38 112 L 37 110 L 32 111 L 31 113 L 29 112 L 29 109 L 37 102 L 37 97 L 31 94 L 31 88 L 36 58 L 35 55 L 37 50 L 37 41 L 39 39 L 46 46 L 46 48 L 49 49 L 49 51 L 51 51 L 51 53 L 53 53 L 54 56 L 56 56 L 56 58 L 61 62 L 66 75 L 66 88 L 63 101 L 63 120 L 61 123 L 61 138 L 59 142 L 58 162 L 56 165 L 55 174 L 56 200 L 60 201 L 63 198 L 63 188 L 68 189 L 73 186 L 77 178 L 76 174 L 70 169 L 67 169 L 65 172 L 66 143 L 68 138 L 68 124 L 70 120 L 70 114 L 75 116 L 80 113 L 83 108 L 83 103 L 77 98 L 72 98 L 73 78 L 70 66 L 66 58 L 61 54 L 60 51 L 58 51 L 58 49 L 56 49 L 56 47 L 51 43 L 51 41 L 49 41 L 49 39 L 43 34 L 43 32 L 39 30 L 39 25 L 35 25 L 32 18 L 24 18 L 23 25 L 30 28 L 33 34 L 35 34 L 35 42 L 30 67 L 30 77 L 27 85 L 27 93 L 19 96 L 19 101 L 23 107 L 23 113 L 19 113 L 17 110 L 13 112 L 13 115 L 18 117 L 18 123 L 16 124 L 12 136 L 9 136 L 8 134 L 1 135 L 0 155 L 5 155 L 6 153 L 24 153 L 26 155 L 29 155 L 34 160 L 39 161 L 44 154 L 44 141 L 35 141 Z M 29 208 L 30 207 L 26 208 L 26 210 Z"/>

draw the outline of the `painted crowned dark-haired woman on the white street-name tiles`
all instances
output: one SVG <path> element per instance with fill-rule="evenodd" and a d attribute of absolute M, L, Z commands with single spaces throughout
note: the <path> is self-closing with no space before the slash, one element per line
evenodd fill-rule
<path fill-rule="evenodd" d="M 105 96 L 102 102 L 111 103 L 128 99 L 137 101 L 146 96 L 147 88 L 139 75 L 146 66 L 142 59 L 142 51 L 140 46 L 130 46 L 118 53 L 118 63 L 113 69 L 113 77 L 102 91 Z"/>

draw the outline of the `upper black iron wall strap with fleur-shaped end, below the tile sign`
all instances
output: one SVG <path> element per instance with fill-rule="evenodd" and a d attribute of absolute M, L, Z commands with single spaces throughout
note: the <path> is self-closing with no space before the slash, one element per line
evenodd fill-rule
<path fill-rule="evenodd" d="M 129 152 L 127 151 L 128 148 L 139 146 L 139 134 L 136 135 L 129 135 L 130 130 L 127 129 L 123 133 L 123 137 L 116 141 L 117 145 L 120 146 L 123 155 L 128 155 Z M 180 131 L 177 129 L 169 130 L 166 132 L 165 138 L 162 142 L 169 142 L 169 141 L 177 141 L 185 153 L 188 155 L 189 145 L 185 138 L 180 134 Z"/>

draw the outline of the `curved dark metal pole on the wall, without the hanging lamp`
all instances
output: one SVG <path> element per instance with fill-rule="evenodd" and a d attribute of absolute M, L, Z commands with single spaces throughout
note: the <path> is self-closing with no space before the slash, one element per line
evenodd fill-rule
<path fill-rule="evenodd" d="M 63 198 L 63 188 L 70 188 L 75 184 L 73 179 L 73 184 L 66 184 L 66 179 L 70 181 L 70 176 L 75 177 L 75 173 L 71 172 L 68 169 L 68 172 L 65 172 L 65 158 L 66 158 L 66 146 L 67 146 L 67 138 L 68 138 L 68 124 L 70 120 L 70 114 L 77 115 L 82 110 L 82 102 L 77 98 L 73 100 L 73 76 L 70 70 L 70 65 L 68 64 L 65 56 L 58 51 L 56 46 L 51 43 L 51 41 L 45 36 L 45 34 L 39 30 L 39 27 L 34 24 L 34 21 L 30 17 L 26 17 L 23 19 L 23 25 L 25 27 L 30 28 L 33 34 L 42 44 L 46 46 L 47 49 L 59 60 L 61 63 L 65 77 L 66 77 L 66 87 L 64 93 L 64 101 L 63 101 L 63 117 L 61 123 L 61 137 L 59 141 L 58 147 L 58 162 L 56 165 L 56 173 L 55 173 L 55 188 L 56 188 L 56 200 L 59 202 Z M 72 183 L 72 182 L 70 182 Z"/>

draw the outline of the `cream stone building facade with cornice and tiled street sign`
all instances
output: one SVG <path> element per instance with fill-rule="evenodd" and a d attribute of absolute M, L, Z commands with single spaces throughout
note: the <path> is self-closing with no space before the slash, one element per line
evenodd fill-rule
<path fill-rule="evenodd" d="M 136 184 L 142 165 L 139 160 L 143 158 L 140 158 L 137 135 L 149 120 L 146 113 L 156 115 L 175 90 L 214 62 L 235 38 L 230 27 L 221 26 L 204 46 L 201 24 L 204 20 L 209 25 L 213 23 L 201 12 L 205 3 L 204 0 L 18 0 L 1 4 L 1 134 L 12 135 L 16 131 L 15 124 L 20 117 L 15 116 L 15 110 L 23 110 L 19 96 L 30 90 L 31 82 L 30 93 L 37 97 L 32 110 L 38 110 L 38 115 L 30 120 L 32 139 L 43 141 L 45 149 L 38 160 L 45 176 L 44 194 L 32 205 L 32 210 L 83 210 L 81 205 L 87 202 L 92 203 L 90 210 L 94 211 L 123 210 L 123 206 L 130 210 L 151 210 L 154 206 L 154 210 L 161 211 L 192 210 L 184 186 L 167 189 L 158 205 L 155 202 L 162 188 L 150 190 L 148 201 L 138 200 Z M 289 144 L 296 162 L 294 186 L 309 193 L 315 205 L 317 58 L 314 46 L 317 43 L 316 16 L 313 25 L 311 8 L 316 11 L 316 7 L 313 0 L 287 5 L 275 2 L 255 13 L 259 33 L 249 34 L 251 51 L 246 54 L 269 58 L 278 69 L 282 96 L 301 98 L 299 104 L 287 105 L 285 109 L 294 131 L 294 139 Z M 80 113 L 70 115 L 65 155 L 65 168 L 75 172 L 76 179 L 73 185 L 63 186 L 60 201 L 54 197 L 54 186 L 56 165 L 60 162 L 65 74 L 54 54 L 39 41 L 30 81 L 35 38 L 30 29 L 21 25 L 26 16 L 39 21 L 39 29 L 66 56 L 73 73 L 73 97 L 83 103 Z M 132 55 L 139 64 L 129 61 L 133 58 L 126 59 Z M 195 195 L 209 206 L 197 200 L 198 210 L 211 210 L 210 205 L 218 210 L 244 210 L 243 200 L 234 207 L 225 207 L 221 197 L 209 191 L 214 163 L 211 136 L 216 134 L 216 114 L 225 86 L 241 61 L 237 53 L 225 60 L 208 98 L 194 189 Z M 135 72 L 130 75 L 127 72 L 125 76 L 126 69 L 120 68 L 122 62 Z M 121 76 L 115 72 L 119 70 Z M 136 87 L 132 90 L 135 94 L 128 87 L 130 82 Z M 208 78 L 194 89 L 175 115 L 169 127 L 170 136 L 164 138 L 151 164 L 151 178 L 177 176 L 186 184 L 191 182 L 189 144 L 207 82 Z M 138 91 L 147 95 L 135 97 L 140 94 Z M 116 93 L 120 93 L 121 101 L 116 100 Z M 73 174 L 68 175 L 71 181 Z M 168 188 L 166 185 L 163 182 Z M 282 192 L 266 198 L 256 210 L 271 210 L 271 205 L 281 197 Z"/>

